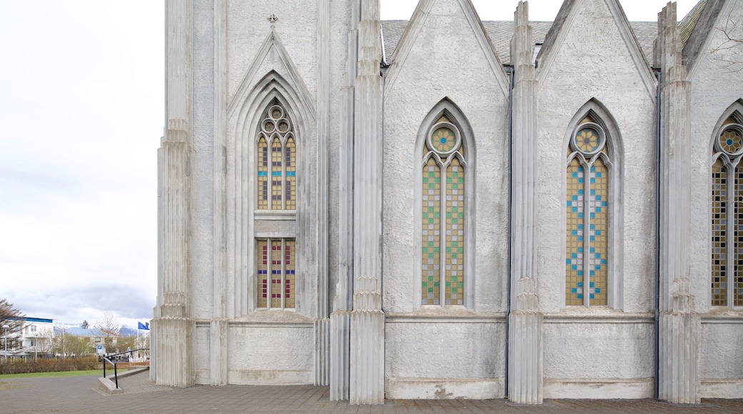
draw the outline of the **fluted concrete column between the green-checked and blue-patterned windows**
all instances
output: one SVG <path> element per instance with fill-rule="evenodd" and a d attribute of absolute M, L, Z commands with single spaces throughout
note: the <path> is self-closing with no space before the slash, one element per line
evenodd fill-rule
<path fill-rule="evenodd" d="M 511 312 L 508 332 L 508 398 L 542 404 L 542 314 L 536 295 L 536 80 L 528 2 L 519 1 L 511 41 L 513 139 L 511 140 Z"/>

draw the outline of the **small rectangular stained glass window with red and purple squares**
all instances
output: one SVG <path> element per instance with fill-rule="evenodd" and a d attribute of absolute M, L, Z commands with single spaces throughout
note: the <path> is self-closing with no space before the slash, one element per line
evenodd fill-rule
<path fill-rule="evenodd" d="M 258 300 L 263 309 L 293 309 L 295 246 L 293 239 L 256 240 Z"/>

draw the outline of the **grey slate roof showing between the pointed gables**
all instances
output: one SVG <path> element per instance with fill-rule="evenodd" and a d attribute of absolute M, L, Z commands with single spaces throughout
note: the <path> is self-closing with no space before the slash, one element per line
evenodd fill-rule
<path fill-rule="evenodd" d="M 403 36 L 407 20 L 383 20 L 382 21 L 382 41 L 384 47 L 384 56 L 387 63 L 392 63 L 392 52 L 398 47 L 400 37 Z M 552 27 L 552 22 L 529 22 L 532 27 L 532 36 L 534 43 L 545 41 L 547 32 Z M 493 49 L 498 53 L 501 63 L 507 65 L 510 62 L 510 40 L 513 37 L 513 22 L 482 22 L 487 36 L 493 42 Z M 640 47 L 650 65 L 652 65 L 652 44 L 655 37 L 658 36 L 658 23 L 656 22 L 630 22 L 632 30 L 640 42 Z"/>

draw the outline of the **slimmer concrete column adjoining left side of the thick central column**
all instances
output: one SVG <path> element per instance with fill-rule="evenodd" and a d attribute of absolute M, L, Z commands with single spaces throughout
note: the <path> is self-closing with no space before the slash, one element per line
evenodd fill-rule
<path fill-rule="evenodd" d="M 330 399 L 348 400 L 351 310 L 354 290 L 354 82 L 358 52 L 359 2 L 351 6 L 351 25 L 343 89 L 341 90 L 340 145 L 338 152 L 338 283 L 330 315 Z"/>

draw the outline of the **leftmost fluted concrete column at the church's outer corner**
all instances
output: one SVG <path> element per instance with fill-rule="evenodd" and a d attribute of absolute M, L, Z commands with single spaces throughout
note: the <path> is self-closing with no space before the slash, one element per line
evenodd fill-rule
<path fill-rule="evenodd" d="M 153 321 L 158 384 L 194 384 L 189 318 L 189 116 L 192 4 L 166 1 L 166 131 L 160 146 L 160 298 Z"/>

